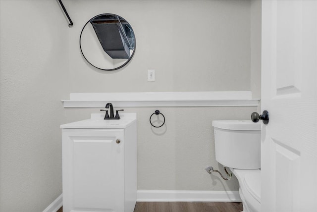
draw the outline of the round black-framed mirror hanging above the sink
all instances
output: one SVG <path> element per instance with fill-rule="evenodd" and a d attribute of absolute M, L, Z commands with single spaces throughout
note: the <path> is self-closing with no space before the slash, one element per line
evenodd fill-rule
<path fill-rule="evenodd" d="M 106 71 L 122 68 L 135 52 L 131 25 L 124 18 L 109 13 L 97 15 L 85 24 L 79 44 L 85 59 Z"/>

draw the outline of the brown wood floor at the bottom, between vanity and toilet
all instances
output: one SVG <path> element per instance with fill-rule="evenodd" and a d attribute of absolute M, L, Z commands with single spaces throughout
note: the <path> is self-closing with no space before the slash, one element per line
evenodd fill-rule
<path fill-rule="evenodd" d="M 57 212 L 63 212 L 61 207 Z M 231 202 L 137 202 L 134 212 L 241 212 L 242 203 Z"/>

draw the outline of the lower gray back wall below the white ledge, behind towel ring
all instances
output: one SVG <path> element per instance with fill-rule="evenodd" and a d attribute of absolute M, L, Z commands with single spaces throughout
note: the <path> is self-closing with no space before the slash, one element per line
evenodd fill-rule
<path fill-rule="evenodd" d="M 221 169 L 215 160 L 212 120 L 248 119 L 256 107 L 126 107 L 137 113 L 137 189 L 237 191 L 235 177 L 224 181 L 205 168 Z M 166 122 L 151 127 L 150 115 L 159 109 Z M 89 118 L 99 108 L 66 109 L 74 120 Z"/>

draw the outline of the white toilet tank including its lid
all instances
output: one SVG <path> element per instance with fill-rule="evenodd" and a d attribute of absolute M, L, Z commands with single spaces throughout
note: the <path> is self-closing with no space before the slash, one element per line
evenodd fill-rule
<path fill-rule="evenodd" d="M 261 123 L 251 120 L 212 121 L 216 160 L 238 169 L 261 167 Z"/>

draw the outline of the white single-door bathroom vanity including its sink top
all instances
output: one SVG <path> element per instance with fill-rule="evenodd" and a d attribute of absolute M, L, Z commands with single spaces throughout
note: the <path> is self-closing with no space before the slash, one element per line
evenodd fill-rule
<path fill-rule="evenodd" d="M 61 125 L 63 212 L 133 212 L 136 116 L 121 116 Z"/>

